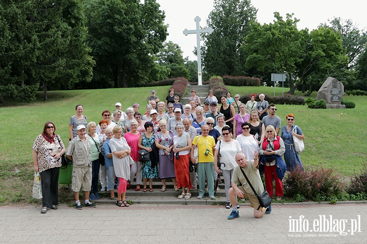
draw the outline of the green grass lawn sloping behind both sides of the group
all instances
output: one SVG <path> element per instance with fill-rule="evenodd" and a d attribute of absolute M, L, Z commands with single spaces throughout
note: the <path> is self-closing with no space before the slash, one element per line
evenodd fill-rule
<path fill-rule="evenodd" d="M 29 202 L 33 184 L 33 162 L 31 150 L 34 139 L 42 133 L 43 125 L 51 120 L 57 127 L 65 145 L 68 144 L 68 121 L 75 114 L 75 105 L 84 106 L 88 122 L 99 122 L 105 109 L 111 112 L 116 102 L 122 107 L 140 104 L 145 112 L 146 98 L 154 89 L 163 101 L 170 86 L 157 88 L 119 88 L 103 90 L 77 90 L 49 92 L 49 101 L 42 101 L 43 94 L 32 103 L 8 102 L 0 106 L 0 204 Z M 228 87 L 235 94 L 264 93 L 273 95 L 269 87 Z M 288 89 L 285 88 L 285 92 Z M 276 96 L 282 88 L 276 88 Z M 302 96 L 302 93 L 296 93 Z M 315 97 L 316 93 L 312 93 Z M 367 158 L 367 99 L 359 96 L 345 96 L 356 102 L 354 109 L 308 109 L 306 105 L 277 104 L 277 115 L 285 123 L 285 116 L 293 113 L 295 124 L 303 130 L 305 151 L 301 153 L 304 166 L 333 168 L 343 177 L 360 172 Z"/>

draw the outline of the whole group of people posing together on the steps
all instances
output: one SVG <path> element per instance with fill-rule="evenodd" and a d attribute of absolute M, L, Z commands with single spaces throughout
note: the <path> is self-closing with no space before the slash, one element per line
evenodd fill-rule
<path fill-rule="evenodd" d="M 58 178 L 63 154 L 73 161 L 72 191 L 75 208 L 82 209 L 79 192 L 84 192 L 84 206 L 96 207 L 90 200 L 99 199 L 101 191 L 109 191 L 116 205 L 127 207 L 126 189 L 136 178 L 135 191 L 153 192 L 152 181 L 162 181 L 161 192 L 166 191 L 166 180 L 172 179 L 179 199 L 189 199 L 190 191 L 197 189 L 198 199 L 205 196 L 206 187 L 210 199 L 215 199 L 214 182 L 221 173 L 226 192 L 226 208 L 233 208 L 229 219 L 239 216 L 236 195 L 249 197 L 254 207 L 254 216 L 261 217 L 271 212 L 271 206 L 260 208 L 259 202 L 246 184 L 243 172 L 248 176 L 256 193 L 263 192 L 260 175 L 265 175 L 266 190 L 273 196 L 273 179 L 277 200 L 283 196 L 282 179 L 286 170 L 302 168 L 299 154 L 294 148 L 293 136 L 303 140 L 302 130 L 295 129 L 293 114 L 288 114 L 287 125 L 281 128 L 281 119 L 276 115 L 275 104 L 268 104 L 264 95 L 256 96 L 244 104 L 240 96 L 231 93 L 218 99 L 209 91 L 201 106 L 200 98 L 191 91 L 189 104 L 184 106 L 170 89 L 166 102 L 160 101 L 151 91 L 146 113 L 139 112 L 140 105 L 122 111 L 102 112 L 102 119 L 87 123 L 83 106 L 75 107 L 76 114 L 69 120 L 70 142 L 65 148 L 56 127 L 51 121 L 44 125 L 33 146 L 34 170 L 42 177 L 43 208 L 58 206 Z M 236 109 L 237 108 L 237 109 Z M 158 110 L 158 111 L 157 111 Z M 281 136 L 279 132 L 281 130 Z M 150 154 L 146 161 L 139 161 L 139 150 Z M 101 155 L 104 160 L 101 160 Z M 284 160 L 282 155 L 284 155 Z M 101 164 L 102 163 L 102 164 Z M 190 163 L 196 172 L 189 171 Z M 240 167 L 243 170 L 240 170 Z M 239 187 L 237 183 L 241 182 Z M 117 185 L 117 197 L 114 188 Z M 148 185 L 149 184 L 149 185 Z"/>

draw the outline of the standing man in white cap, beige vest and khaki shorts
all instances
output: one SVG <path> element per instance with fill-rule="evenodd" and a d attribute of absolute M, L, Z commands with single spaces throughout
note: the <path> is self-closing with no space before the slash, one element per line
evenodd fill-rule
<path fill-rule="evenodd" d="M 76 127 L 78 136 L 70 141 L 67 146 L 66 156 L 72 160 L 71 190 L 74 193 L 75 208 L 80 210 L 82 206 L 79 201 L 79 191 L 84 193 L 84 205 L 96 207 L 89 201 L 89 191 L 92 185 L 92 160 L 89 141 L 85 138 L 85 126 Z"/>

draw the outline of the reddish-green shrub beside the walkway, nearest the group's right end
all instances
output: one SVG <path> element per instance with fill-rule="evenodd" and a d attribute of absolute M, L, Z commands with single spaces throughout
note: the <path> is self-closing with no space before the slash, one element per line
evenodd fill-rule
<path fill-rule="evenodd" d="M 297 168 L 285 179 L 283 188 L 289 197 L 302 195 L 306 199 L 326 200 L 341 195 L 344 184 L 333 169 L 320 167 L 301 170 Z"/>

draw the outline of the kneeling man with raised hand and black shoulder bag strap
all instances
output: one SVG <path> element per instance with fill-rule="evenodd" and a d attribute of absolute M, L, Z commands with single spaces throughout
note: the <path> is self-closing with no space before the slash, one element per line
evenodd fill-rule
<path fill-rule="evenodd" d="M 240 217 L 237 211 L 237 197 L 240 198 L 248 197 L 250 199 L 250 206 L 253 207 L 253 216 L 255 218 L 261 218 L 264 215 L 266 208 L 260 206 L 257 196 L 251 190 L 251 187 L 247 184 L 247 180 L 242 173 L 240 167 L 245 172 L 248 180 L 255 189 L 257 194 L 262 194 L 264 192 L 264 186 L 262 184 L 260 173 L 258 170 L 259 160 L 257 158 L 258 154 L 255 151 L 254 160 L 246 160 L 244 153 L 239 152 L 236 154 L 236 162 L 238 166 L 233 170 L 231 185 L 232 188 L 229 190 L 228 195 L 233 206 L 232 213 L 228 216 L 228 219 L 235 219 Z M 238 187 L 237 183 L 241 182 L 242 186 Z"/>

